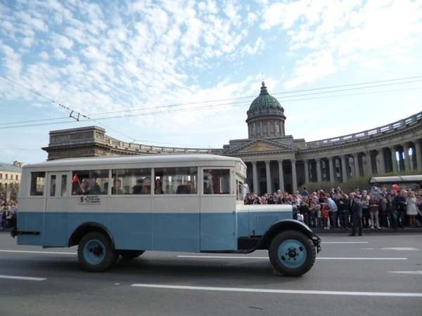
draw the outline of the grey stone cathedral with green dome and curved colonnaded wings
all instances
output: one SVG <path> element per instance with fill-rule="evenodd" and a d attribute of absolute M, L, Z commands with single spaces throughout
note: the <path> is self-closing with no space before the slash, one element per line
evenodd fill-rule
<path fill-rule="evenodd" d="M 316 181 L 342 182 L 355 176 L 422 168 L 422 112 L 345 136 L 306 142 L 286 135 L 284 109 L 262 82 L 247 112 L 248 138 L 219 149 L 125 143 L 97 126 L 50 132 L 49 159 L 182 152 L 223 154 L 243 159 L 253 192 L 294 192 Z"/>

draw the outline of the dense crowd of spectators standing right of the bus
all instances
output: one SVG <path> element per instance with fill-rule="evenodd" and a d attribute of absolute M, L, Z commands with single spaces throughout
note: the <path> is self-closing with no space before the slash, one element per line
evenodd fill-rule
<path fill-rule="evenodd" d="M 332 188 L 330 192 L 308 192 L 305 187 L 293 195 L 280 190 L 261 197 L 248 193 L 244 203 L 291 204 L 294 218 L 313 229 L 347 230 L 353 226 L 357 228 L 361 223 L 362 228 L 371 229 L 422 227 L 422 190 L 398 190 L 397 185 L 391 190 L 372 187 L 369 192 L 357 189 L 349 194 L 340 187 Z M 354 220 L 354 206 L 357 204 L 358 221 Z"/>

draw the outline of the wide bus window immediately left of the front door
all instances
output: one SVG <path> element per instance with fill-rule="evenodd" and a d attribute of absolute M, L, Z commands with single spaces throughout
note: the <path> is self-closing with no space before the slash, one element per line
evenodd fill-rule
<path fill-rule="evenodd" d="M 156 168 L 154 194 L 196 194 L 198 168 Z"/>

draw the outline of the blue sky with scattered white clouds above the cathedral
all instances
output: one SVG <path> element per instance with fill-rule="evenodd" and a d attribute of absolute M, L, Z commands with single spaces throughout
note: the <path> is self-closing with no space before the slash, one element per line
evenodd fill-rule
<path fill-rule="evenodd" d="M 92 125 L 220 148 L 248 138 L 262 79 L 307 141 L 422 111 L 422 0 L 0 0 L 0 17 L 0 162 Z"/>

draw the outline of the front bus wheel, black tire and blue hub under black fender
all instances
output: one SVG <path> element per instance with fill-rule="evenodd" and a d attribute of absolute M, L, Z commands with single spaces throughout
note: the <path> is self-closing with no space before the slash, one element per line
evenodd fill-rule
<path fill-rule="evenodd" d="M 316 251 L 312 239 L 298 230 L 286 230 L 276 235 L 269 245 L 269 261 L 274 269 L 287 277 L 300 277 L 315 263 Z"/>

